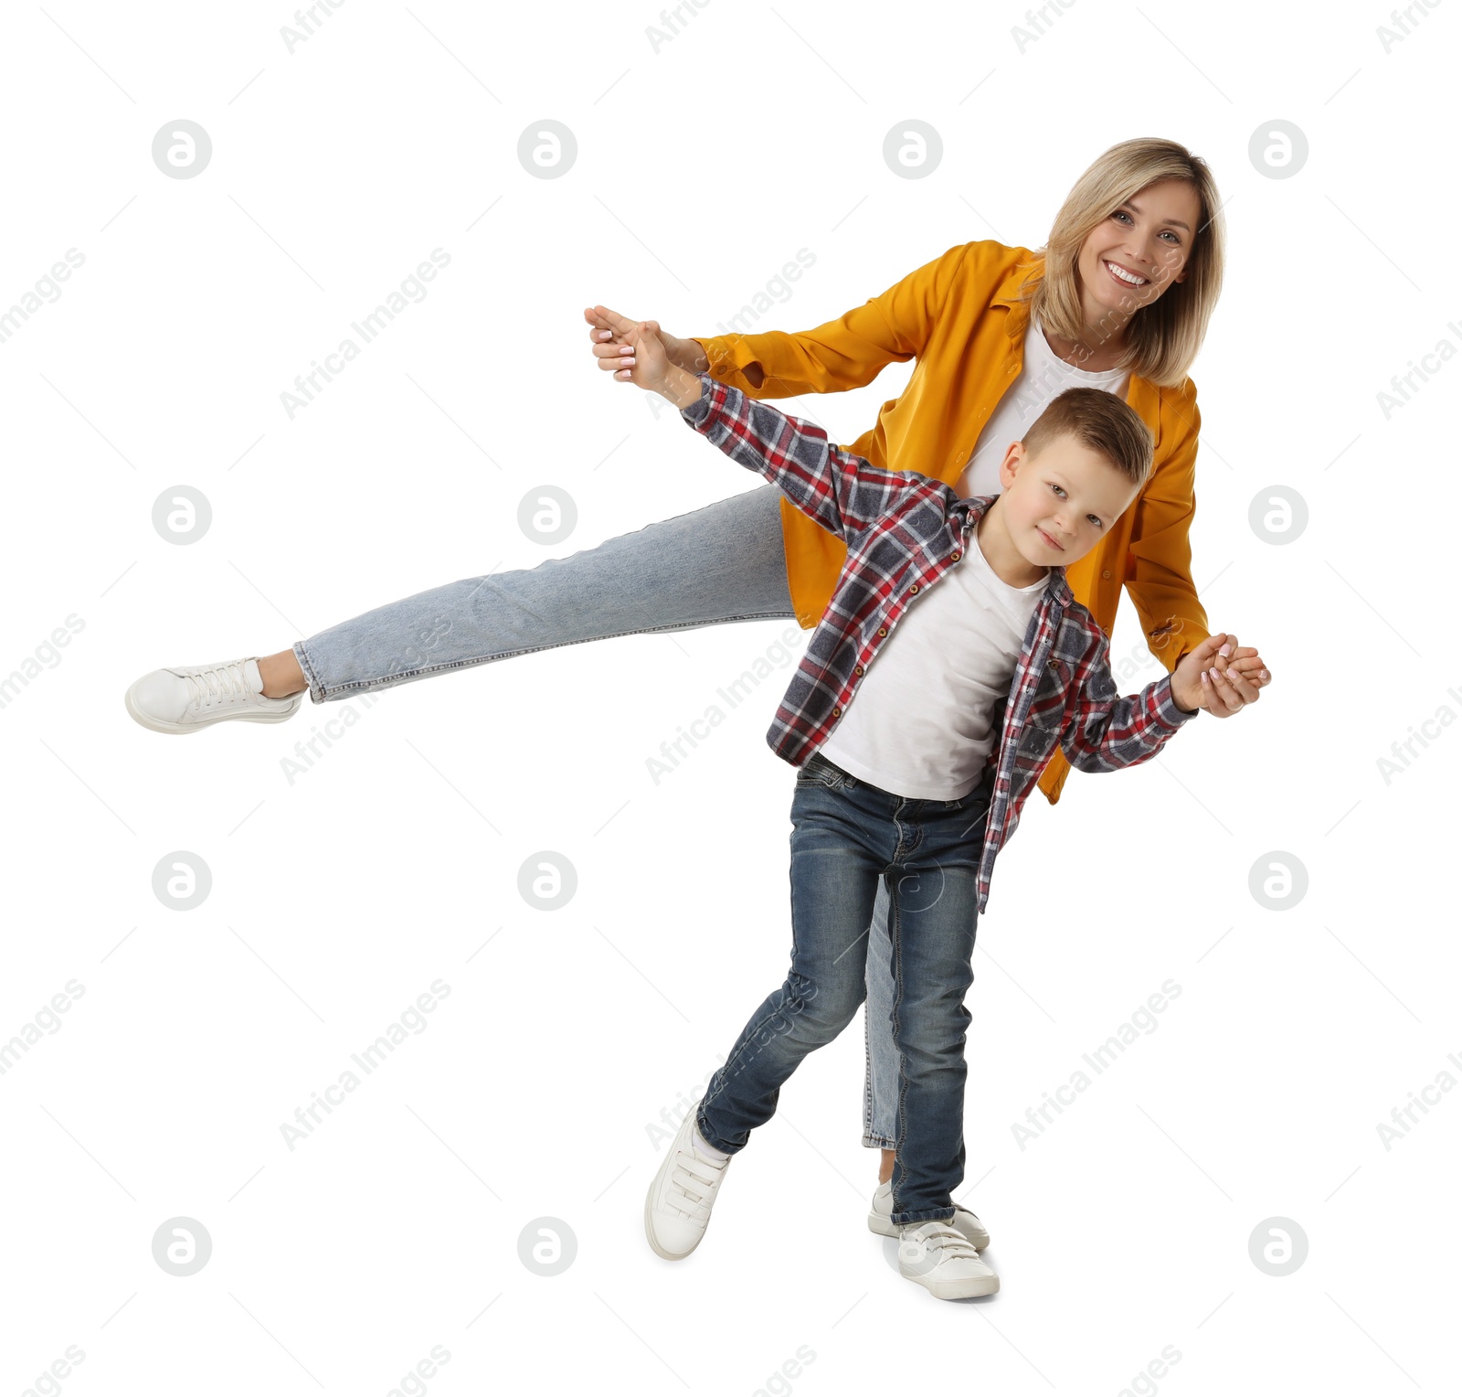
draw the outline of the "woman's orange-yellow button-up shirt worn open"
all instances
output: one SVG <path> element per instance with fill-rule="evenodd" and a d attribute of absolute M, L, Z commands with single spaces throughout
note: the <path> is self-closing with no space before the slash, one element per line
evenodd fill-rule
<path fill-rule="evenodd" d="M 908 386 L 879 408 L 877 424 L 838 445 L 885 470 L 920 471 L 956 486 L 981 429 L 1020 372 L 1029 307 L 1019 288 L 1039 263 L 1025 247 L 963 243 L 816 329 L 699 342 L 711 376 L 749 398 L 863 388 L 886 364 L 915 360 Z M 765 374 L 760 388 L 746 377 L 750 364 Z M 1126 584 L 1148 647 L 1171 673 L 1209 635 L 1189 576 L 1197 396 L 1192 379 L 1180 389 L 1159 389 L 1133 373 L 1127 402 L 1152 432 L 1152 474 L 1096 547 L 1067 566 L 1066 581 L 1108 636 Z M 797 620 L 811 629 L 832 600 L 846 546 L 785 499 L 782 543 Z M 1051 805 L 1067 771 L 1070 764 L 1057 749 L 1039 781 Z"/>

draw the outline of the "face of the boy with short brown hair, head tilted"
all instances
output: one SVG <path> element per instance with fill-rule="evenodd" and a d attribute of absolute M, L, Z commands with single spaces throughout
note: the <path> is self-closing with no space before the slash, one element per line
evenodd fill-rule
<path fill-rule="evenodd" d="M 1085 557 L 1137 497 L 1104 455 L 1058 436 L 1032 455 L 1012 442 L 1000 462 L 1000 509 L 1020 556 L 1038 568 Z"/>

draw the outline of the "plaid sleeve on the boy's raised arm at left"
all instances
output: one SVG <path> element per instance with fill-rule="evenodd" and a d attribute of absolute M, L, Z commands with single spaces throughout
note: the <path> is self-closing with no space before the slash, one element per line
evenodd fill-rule
<path fill-rule="evenodd" d="M 822 427 L 747 398 L 709 373 L 699 377 L 700 398 L 680 415 L 738 465 L 765 475 L 829 534 L 846 540 L 863 532 L 924 478 L 880 470 L 829 443 Z"/>

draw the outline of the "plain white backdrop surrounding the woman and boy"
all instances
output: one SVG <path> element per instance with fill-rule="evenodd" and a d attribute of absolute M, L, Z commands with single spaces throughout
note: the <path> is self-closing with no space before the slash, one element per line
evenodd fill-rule
<path fill-rule="evenodd" d="M 1462 1093 L 1389 1150 L 1377 1123 L 1462 1080 L 1462 734 L 1389 783 L 1377 759 L 1462 712 L 1462 366 L 1389 420 L 1377 394 L 1462 345 L 1456 10 L 1415 7 L 1389 51 L 1380 4 L 1082 0 L 1023 50 L 1018 6 L 684 15 L 656 51 L 633 0 L 346 0 L 289 53 L 285 6 L 7 7 L 0 306 L 67 249 L 85 265 L 0 344 L 0 671 L 85 629 L 0 708 L 0 1040 L 85 992 L 0 1077 L 0 1390 L 1446 1388 Z M 911 117 L 944 143 L 921 180 L 882 158 Z M 212 138 L 196 178 L 152 162 L 178 118 Z M 577 139 L 561 178 L 518 161 L 542 118 Z M 1308 139 L 1291 178 L 1249 158 L 1275 118 Z M 792 772 L 765 731 L 789 669 L 658 784 L 646 759 L 791 623 L 405 685 L 292 784 L 282 758 L 338 705 L 174 740 L 123 690 L 754 487 L 594 367 L 585 304 L 713 334 L 806 247 L 760 322 L 806 329 L 950 246 L 1039 246 L 1139 135 L 1202 154 L 1227 199 L 1193 576 L 1275 682 L 1140 769 L 1037 794 L 1000 857 L 959 1194 L 999 1296 L 931 1299 L 866 1229 L 861 1015 L 664 1262 L 648 1126 L 787 967 Z M 427 298 L 289 420 L 295 374 L 434 247 Z M 851 442 L 908 372 L 787 407 Z M 178 484 L 213 511 L 184 547 L 151 521 Z M 518 527 L 542 484 L 579 509 L 553 549 Z M 1249 522 L 1276 484 L 1308 508 L 1287 544 Z M 1113 644 L 1142 654 L 1126 600 Z M 212 870 L 187 913 L 152 891 L 175 850 Z M 518 891 L 542 850 L 577 873 L 553 913 Z M 1275 851 L 1308 878 L 1288 911 L 1250 892 Z M 1170 977 L 1156 1030 L 1020 1148 L 1012 1125 Z M 295 1107 L 437 979 L 425 1031 L 291 1151 Z M 152 1257 L 175 1217 L 212 1238 L 190 1277 Z M 576 1242 L 556 1276 L 519 1258 L 545 1217 Z M 1284 1277 L 1250 1258 L 1273 1217 L 1308 1240 Z"/>

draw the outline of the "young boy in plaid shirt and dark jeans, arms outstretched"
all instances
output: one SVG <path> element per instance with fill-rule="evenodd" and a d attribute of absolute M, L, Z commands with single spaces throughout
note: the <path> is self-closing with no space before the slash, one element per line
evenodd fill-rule
<path fill-rule="evenodd" d="M 649 1245 L 667 1259 L 696 1249 L 731 1156 L 770 1119 L 801 1059 L 852 1020 L 885 878 L 899 1271 L 940 1299 L 990 1295 L 1000 1281 L 977 1251 L 988 1236 L 953 1191 L 965 1172 L 963 998 L 996 854 L 1057 743 L 1083 771 L 1156 755 L 1197 715 L 1208 667 L 1234 638 L 1209 636 L 1171 676 L 1117 693 L 1107 636 L 1066 584 L 1066 566 L 1151 470 L 1151 433 L 1116 395 L 1067 389 L 1009 448 L 1003 493 L 959 499 L 671 366 L 655 331 L 646 322 L 632 336 L 632 382 L 844 538 L 848 560 L 768 731 L 798 768 L 792 965 L 687 1112 L 645 1200 Z"/>

